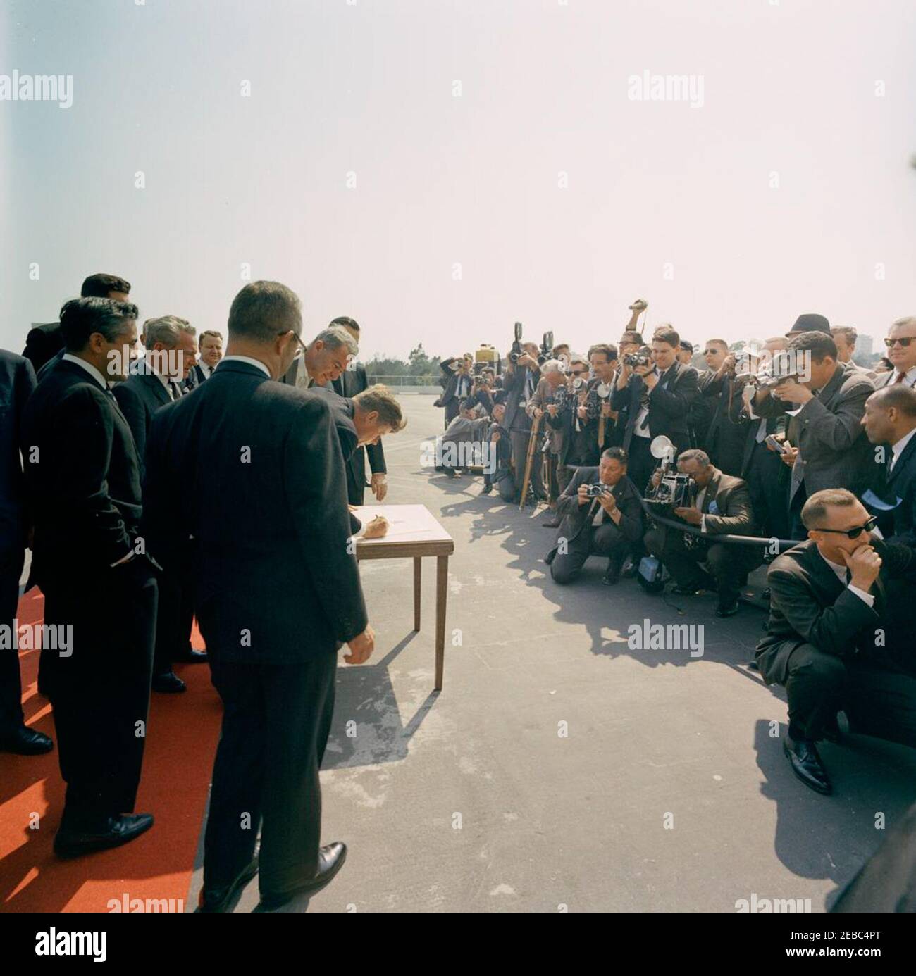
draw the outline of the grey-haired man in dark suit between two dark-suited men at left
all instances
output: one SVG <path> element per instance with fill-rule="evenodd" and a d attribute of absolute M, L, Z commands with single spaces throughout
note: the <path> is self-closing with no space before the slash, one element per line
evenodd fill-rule
<path fill-rule="evenodd" d="M 130 425 L 140 458 L 141 477 L 146 465 L 146 438 L 152 415 L 182 396 L 182 384 L 194 367 L 197 343 L 194 327 L 177 315 L 163 315 L 144 322 L 146 355 L 131 366 L 131 375 L 114 387 L 114 398 Z M 159 577 L 156 613 L 156 649 L 152 662 L 152 690 L 180 694 L 185 682 L 172 670 L 175 661 L 201 663 L 203 651 L 190 646 L 194 610 L 190 593 L 190 560 L 177 560 Z"/>

